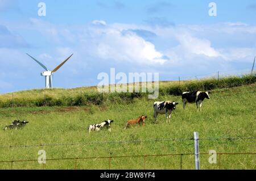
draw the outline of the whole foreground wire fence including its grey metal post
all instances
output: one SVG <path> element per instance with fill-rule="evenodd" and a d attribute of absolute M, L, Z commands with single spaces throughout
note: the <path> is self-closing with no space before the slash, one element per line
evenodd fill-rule
<path fill-rule="evenodd" d="M 47 158 L 48 161 L 62 161 L 62 160 L 72 160 L 74 161 L 73 169 L 77 169 L 77 162 L 84 159 L 108 159 L 109 168 L 112 167 L 112 159 L 121 159 L 121 158 L 143 158 L 143 168 L 146 169 L 146 158 L 148 157 L 179 157 L 180 165 L 179 168 L 183 169 L 183 156 L 184 155 L 195 155 L 195 168 L 200 169 L 199 156 L 206 155 L 209 153 L 200 153 L 199 152 L 199 140 L 253 140 L 255 141 L 256 137 L 208 137 L 208 138 L 199 138 L 198 133 L 194 133 L 194 138 L 169 138 L 162 140 L 131 140 L 131 141 L 107 141 L 107 142 L 84 142 L 84 143 L 67 143 L 67 144 L 39 144 L 39 145 L 1 145 L 2 148 L 29 148 L 29 147 L 39 147 L 39 146 L 63 146 L 63 145 L 87 145 L 87 144 L 125 144 L 133 142 L 161 142 L 161 141 L 195 141 L 195 153 L 175 153 L 175 154 L 146 154 L 146 155 L 119 155 L 119 156 L 108 156 L 108 157 L 75 157 L 75 158 Z M 218 169 L 221 169 L 221 155 L 255 155 L 256 152 L 240 152 L 240 153 L 216 153 L 218 155 Z M 10 169 L 13 169 L 13 164 L 15 162 L 38 162 L 38 159 L 24 159 L 24 160 L 11 160 L 11 161 L 0 161 L 0 163 L 10 163 Z M 44 164 L 42 164 L 42 169 L 44 169 Z"/>

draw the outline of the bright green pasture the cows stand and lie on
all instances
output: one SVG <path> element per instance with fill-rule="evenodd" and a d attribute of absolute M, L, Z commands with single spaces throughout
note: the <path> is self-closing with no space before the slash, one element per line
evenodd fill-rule
<path fill-rule="evenodd" d="M 209 100 L 204 100 L 203 111 L 196 112 L 195 104 L 183 110 L 181 96 L 161 95 L 156 100 L 179 102 L 171 123 L 159 115 L 154 123 L 152 104 L 156 100 L 134 99 L 127 104 L 107 102 L 100 106 L 82 107 L 14 107 L 0 108 L 0 128 L 14 119 L 28 120 L 23 129 L 0 131 L 0 146 L 40 145 L 63 143 L 108 142 L 122 140 L 155 140 L 192 138 L 199 132 L 207 137 L 256 137 L 256 84 L 214 89 Z M 127 120 L 147 115 L 146 126 L 123 130 Z M 112 132 L 104 130 L 88 133 L 92 123 L 113 119 Z M 46 159 L 77 157 L 109 157 L 110 155 L 193 154 L 193 140 L 148 141 L 84 145 L 35 146 L 0 148 L 0 161 L 37 160 L 39 150 L 46 151 Z M 200 140 L 200 152 L 255 153 L 255 140 Z M 221 155 L 210 164 L 210 155 L 200 155 L 201 169 L 256 169 L 256 155 Z M 46 160 L 42 167 L 37 161 L 0 162 L 0 169 L 109 169 L 109 158 L 77 160 Z M 76 166 L 75 166 L 76 165 Z M 183 155 L 182 169 L 194 169 L 194 155 Z M 112 158 L 111 169 L 180 169 L 179 156 Z"/>

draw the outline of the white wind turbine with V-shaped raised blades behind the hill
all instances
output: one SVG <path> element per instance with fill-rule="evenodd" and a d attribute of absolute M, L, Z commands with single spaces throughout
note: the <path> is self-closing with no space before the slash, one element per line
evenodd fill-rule
<path fill-rule="evenodd" d="M 28 56 L 30 56 L 28 53 L 27 53 Z M 73 53 L 71 54 L 71 56 L 73 55 Z M 63 66 L 63 64 L 65 64 L 65 62 L 68 61 L 68 59 L 71 57 L 69 56 L 66 60 L 64 60 L 60 65 L 56 66 L 55 69 L 53 69 L 52 71 L 48 70 L 46 68 L 46 66 L 44 66 L 41 62 L 39 62 L 38 60 L 36 60 L 34 57 L 30 56 L 33 60 L 35 60 L 40 66 L 42 66 L 42 68 L 44 68 L 44 70 L 46 71 L 43 71 L 41 72 L 41 75 L 46 77 L 46 89 L 49 89 L 49 88 L 52 88 L 52 74 L 55 73 L 55 71 L 57 71 L 61 66 Z"/>

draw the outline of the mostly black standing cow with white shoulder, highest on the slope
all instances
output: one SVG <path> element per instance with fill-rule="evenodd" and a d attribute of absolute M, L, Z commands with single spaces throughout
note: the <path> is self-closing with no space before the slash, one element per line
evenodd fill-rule
<path fill-rule="evenodd" d="M 210 99 L 208 91 L 193 91 L 193 92 L 183 92 L 182 93 L 182 100 L 183 100 L 183 108 L 185 110 L 187 103 L 196 103 L 197 111 L 202 110 L 202 102 L 207 98 Z"/>

